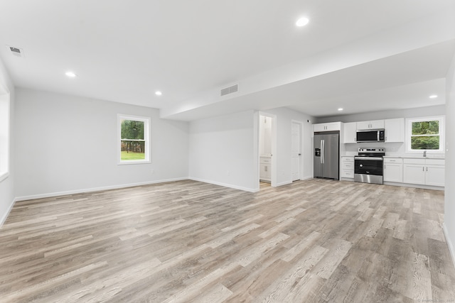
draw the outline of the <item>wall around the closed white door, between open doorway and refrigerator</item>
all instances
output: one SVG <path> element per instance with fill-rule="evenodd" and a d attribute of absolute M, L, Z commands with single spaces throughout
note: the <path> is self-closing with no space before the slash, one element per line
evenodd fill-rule
<path fill-rule="evenodd" d="M 301 134 L 301 159 L 303 165 L 301 167 L 303 169 L 301 171 L 301 179 L 304 180 L 313 177 L 313 126 L 311 125 L 311 121 L 314 118 L 307 114 L 302 114 L 299 111 L 287 109 L 286 107 L 269 109 L 263 112 L 277 116 L 277 158 L 275 159 L 276 167 L 272 167 L 272 170 L 277 170 L 277 186 L 292 182 L 291 130 L 293 120 L 302 122 L 304 126 Z"/>

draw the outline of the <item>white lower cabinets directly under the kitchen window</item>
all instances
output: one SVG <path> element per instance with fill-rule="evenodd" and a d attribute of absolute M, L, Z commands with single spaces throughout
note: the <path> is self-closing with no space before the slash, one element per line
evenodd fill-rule
<path fill-rule="evenodd" d="M 404 159 L 403 182 L 405 183 L 444 186 L 444 173 L 443 159 Z"/>

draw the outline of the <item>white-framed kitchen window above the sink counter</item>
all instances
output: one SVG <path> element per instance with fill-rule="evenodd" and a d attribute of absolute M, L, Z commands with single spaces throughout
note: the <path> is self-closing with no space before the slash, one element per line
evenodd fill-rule
<path fill-rule="evenodd" d="M 407 151 L 444 153 L 444 117 L 407 119 Z"/>

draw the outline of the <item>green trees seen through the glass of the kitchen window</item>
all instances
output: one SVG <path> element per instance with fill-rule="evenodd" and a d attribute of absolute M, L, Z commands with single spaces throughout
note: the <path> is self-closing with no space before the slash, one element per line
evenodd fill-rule
<path fill-rule="evenodd" d="M 417 121 L 411 125 L 412 150 L 439 150 L 439 121 Z"/>

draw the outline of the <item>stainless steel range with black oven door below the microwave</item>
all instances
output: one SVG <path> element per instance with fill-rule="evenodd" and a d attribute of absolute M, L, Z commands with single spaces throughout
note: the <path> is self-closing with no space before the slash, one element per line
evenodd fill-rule
<path fill-rule="evenodd" d="M 359 148 L 354 156 L 354 181 L 382 184 L 385 148 Z"/>

